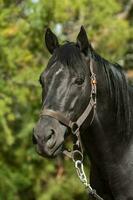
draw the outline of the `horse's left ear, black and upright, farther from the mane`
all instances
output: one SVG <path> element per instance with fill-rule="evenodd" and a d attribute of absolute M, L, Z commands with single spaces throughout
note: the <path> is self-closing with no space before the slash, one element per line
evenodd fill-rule
<path fill-rule="evenodd" d="M 56 35 L 50 30 L 50 28 L 47 28 L 45 33 L 45 44 L 51 54 L 57 47 L 59 47 L 58 39 Z"/>

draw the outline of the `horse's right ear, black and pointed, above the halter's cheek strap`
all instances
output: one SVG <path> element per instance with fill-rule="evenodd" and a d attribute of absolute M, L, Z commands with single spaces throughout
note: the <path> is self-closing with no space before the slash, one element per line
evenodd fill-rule
<path fill-rule="evenodd" d="M 89 47 L 91 47 L 83 26 L 81 26 L 80 32 L 77 36 L 77 46 L 80 48 L 80 51 L 83 52 L 85 55 L 87 55 L 88 49 Z"/>

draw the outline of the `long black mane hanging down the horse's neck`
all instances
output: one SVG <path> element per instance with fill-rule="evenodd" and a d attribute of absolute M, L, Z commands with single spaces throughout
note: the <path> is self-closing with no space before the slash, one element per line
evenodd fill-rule
<path fill-rule="evenodd" d="M 131 111 L 129 103 L 128 82 L 122 67 L 117 63 L 110 63 L 95 51 L 92 57 L 100 67 L 103 67 L 108 87 L 108 95 L 116 110 L 117 132 L 124 139 L 130 135 Z"/>

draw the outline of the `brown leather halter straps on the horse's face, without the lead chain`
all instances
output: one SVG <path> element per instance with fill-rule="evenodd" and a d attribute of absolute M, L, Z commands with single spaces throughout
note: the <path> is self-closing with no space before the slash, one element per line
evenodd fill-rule
<path fill-rule="evenodd" d="M 93 61 L 90 60 L 90 79 L 91 79 L 91 94 L 90 94 L 90 101 L 84 112 L 81 114 L 81 116 L 77 119 L 77 121 L 71 121 L 71 119 L 68 119 L 63 113 L 60 111 L 54 111 L 52 109 L 43 108 L 43 110 L 40 113 L 40 116 L 50 116 L 52 118 L 57 119 L 59 122 L 64 124 L 66 127 L 69 127 L 72 134 L 77 137 L 76 145 L 78 146 L 78 149 L 80 148 L 81 152 L 83 152 L 82 148 L 82 142 L 80 139 L 80 127 L 86 120 L 86 118 L 90 115 L 91 111 L 93 111 L 93 116 L 90 122 L 90 125 L 94 119 L 95 115 L 95 108 L 96 108 L 96 74 L 93 72 Z M 75 144 L 74 144 L 75 145 Z M 70 153 L 64 152 L 67 154 L 67 156 L 70 156 Z"/>

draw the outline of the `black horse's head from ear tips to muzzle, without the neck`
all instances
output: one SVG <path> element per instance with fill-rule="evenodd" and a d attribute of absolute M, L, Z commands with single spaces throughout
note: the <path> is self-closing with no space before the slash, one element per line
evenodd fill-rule
<path fill-rule="evenodd" d="M 43 114 L 34 129 L 33 141 L 39 154 L 55 157 L 62 152 L 69 132 L 64 121 L 68 119 L 75 122 L 90 100 L 88 55 L 91 55 L 92 47 L 83 27 L 75 43 L 66 42 L 63 45 L 59 44 L 56 35 L 48 28 L 45 43 L 52 56 L 40 75 Z M 56 117 L 46 114 L 46 111 L 53 112 Z"/>

